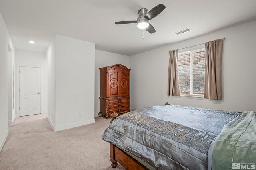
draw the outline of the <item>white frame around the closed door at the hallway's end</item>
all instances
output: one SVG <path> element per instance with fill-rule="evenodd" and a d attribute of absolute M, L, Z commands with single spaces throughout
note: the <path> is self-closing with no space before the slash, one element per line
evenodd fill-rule
<path fill-rule="evenodd" d="M 19 92 L 19 89 L 20 89 L 20 67 L 32 67 L 32 68 L 41 68 L 41 113 L 40 114 L 42 114 L 42 110 L 43 110 L 43 108 L 42 108 L 42 106 L 43 106 L 43 104 L 42 104 L 42 102 L 43 102 L 43 95 L 42 95 L 42 93 L 43 93 L 43 75 L 42 75 L 42 73 L 43 73 L 43 67 L 42 66 L 26 66 L 26 65 L 17 65 L 17 89 L 16 89 L 16 92 L 17 92 L 17 94 L 18 94 L 18 100 L 17 100 L 17 117 L 20 117 L 20 109 L 19 109 L 19 107 L 20 107 L 20 92 Z"/>

